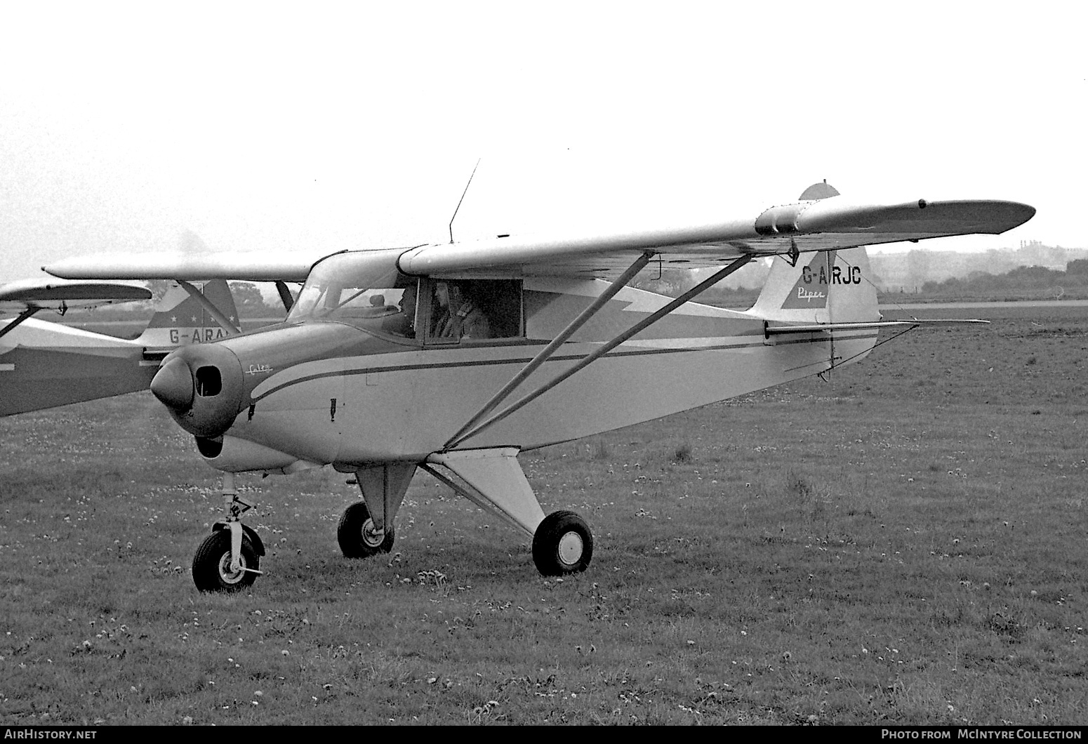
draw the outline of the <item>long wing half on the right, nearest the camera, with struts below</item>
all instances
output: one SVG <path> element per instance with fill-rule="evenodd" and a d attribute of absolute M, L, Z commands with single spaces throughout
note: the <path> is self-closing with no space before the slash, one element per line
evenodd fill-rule
<path fill-rule="evenodd" d="M 697 226 L 607 233 L 498 237 L 420 246 L 399 259 L 419 275 L 614 276 L 642 251 L 662 268 L 720 265 L 744 255 L 805 252 L 952 235 L 999 234 L 1023 224 L 1035 209 L 1014 201 L 914 200 L 865 204 L 831 197 L 772 207 L 747 219 Z"/>

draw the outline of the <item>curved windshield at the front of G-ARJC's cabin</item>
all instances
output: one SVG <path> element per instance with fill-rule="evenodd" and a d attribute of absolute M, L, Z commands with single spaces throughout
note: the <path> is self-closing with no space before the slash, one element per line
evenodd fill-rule
<path fill-rule="evenodd" d="M 415 287 L 416 280 L 397 271 L 396 259 L 401 252 L 346 252 L 320 261 L 306 277 L 287 322 L 339 321 L 397 333 L 396 320 L 407 321 L 416 314 L 415 293 L 405 296 L 405 289 Z"/>

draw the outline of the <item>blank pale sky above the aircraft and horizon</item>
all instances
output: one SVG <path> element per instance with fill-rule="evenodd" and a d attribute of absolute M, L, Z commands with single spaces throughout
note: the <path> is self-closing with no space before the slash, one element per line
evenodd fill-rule
<path fill-rule="evenodd" d="M 1085 11 L 1048 3 L 0 4 L 0 281 L 746 216 L 827 179 L 1088 247 Z M 754 219 L 757 212 L 752 212 Z"/>

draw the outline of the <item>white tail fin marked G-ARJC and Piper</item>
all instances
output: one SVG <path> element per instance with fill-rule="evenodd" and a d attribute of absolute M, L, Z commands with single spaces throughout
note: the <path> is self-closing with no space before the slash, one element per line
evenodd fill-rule
<path fill-rule="evenodd" d="M 750 311 L 787 323 L 867 323 L 880 319 L 865 248 L 778 257 Z"/>

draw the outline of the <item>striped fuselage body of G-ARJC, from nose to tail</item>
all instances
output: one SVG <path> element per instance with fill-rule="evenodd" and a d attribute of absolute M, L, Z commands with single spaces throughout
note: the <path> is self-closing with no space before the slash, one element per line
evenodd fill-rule
<path fill-rule="evenodd" d="M 184 358 L 197 382 L 191 409 L 174 416 L 223 470 L 422 461 L 607 286 L 524 280 L 523 322 L 505 338 L 405 337 L 388 331 L 397 327 L 392 313 L 361 322 L 309 319 L 178 350 L 171 357 Z M 669 299 L 621 290 L 511 399 Z M 762 317 L 689 302 L 457 446 L 532 449 L 610 431 L 815 374 L 832 358 L 864 355 L 875 338 L 874 330 L 838 333 L 833 342 L 827 333 L 768 338 Z M 207 376 L 210 368 L 218 380 L 207 387 L 213 394 L 202 395 L 201 370 Z"/>

